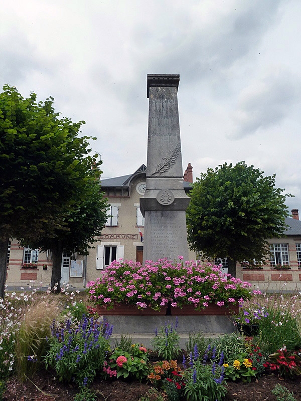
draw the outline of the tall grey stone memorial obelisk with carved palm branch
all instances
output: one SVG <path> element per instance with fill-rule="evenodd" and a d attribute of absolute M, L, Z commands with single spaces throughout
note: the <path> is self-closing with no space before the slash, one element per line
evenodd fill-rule
<path fill-rule="evenodd" d="M 188 260 L 185 211 L 190 198 L 183 186 L 178 111 L 180 75 L 147 75 L 148 139 L 143 264 L 183 256 Z"/>

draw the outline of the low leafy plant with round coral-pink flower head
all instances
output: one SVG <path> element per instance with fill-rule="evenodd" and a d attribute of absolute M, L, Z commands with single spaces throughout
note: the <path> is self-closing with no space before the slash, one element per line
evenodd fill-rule
<path fill-rule="evenodd" d="M 141 381 L 148 374 L 147 362 L 147 349 L 139 344 L 132 344 L 130 353 L 115 348 L 107 363 L 111 369 L 116 369 L 117 378 Z"/>

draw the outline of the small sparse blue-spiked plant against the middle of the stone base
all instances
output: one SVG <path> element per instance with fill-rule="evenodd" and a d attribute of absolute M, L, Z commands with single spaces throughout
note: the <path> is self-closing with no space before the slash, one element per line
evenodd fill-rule
<path fill-rule="evenodd" d="M 176 318 L 175 327 L 173 323 L 161 326 L 160 332 L 156 329 L 155 337 L 151 340 L 154 350 L 158 352 L 159 357 L 167 360 L 178 357 L 181 348 L 179 345 L 180 336 L 177 332 L 178 318 Z"/>

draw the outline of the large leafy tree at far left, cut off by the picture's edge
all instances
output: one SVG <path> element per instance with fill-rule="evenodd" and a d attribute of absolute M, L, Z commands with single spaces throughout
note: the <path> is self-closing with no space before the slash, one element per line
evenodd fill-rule
<path fill-rule="evenodd" d="M 79 135 L 84 121 L 60 118 L 52 105 L 51 97 L 37 102 L 9 85 L 0 93 L 0 297 L 9 239 L 56 238 L 66 226 L 62 210 L 76 211 L 101 173 L 97 155 L 89 155 L 91 138 Z"/>

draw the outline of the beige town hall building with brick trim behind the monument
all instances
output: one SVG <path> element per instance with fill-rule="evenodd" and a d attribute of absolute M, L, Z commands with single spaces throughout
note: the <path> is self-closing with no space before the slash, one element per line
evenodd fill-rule
<path fill-rule="evenodd" d="M 112 260 L 123 258 L 142 263 L 144 219 L 139 209 L 139 200 L 145 190 L 146 166 L 142 164 L 134 173 L 101 181 L 102 190 L 108 198 L 110 210 L 102 235 L 95 238 L 87 256 L 63 253 L 62 283 L 72 287 L 85 287 L 90 280 L 98 278 Z M 188 164 L 184 173 L 184 189 L 190 190 L 193 181 L 192 166 Z M 283 238 L 271 238 L 270 255 L 264 265 L 236 265 L 236 277 L 249 281 L 253 288 L 301 290 L 301 221 L 298 210 L 292 210 L 292 218 L 286 218 L 287 230 Z M 164 256 L 164 255 L 163 255 Z M 189 251 L 189 260 L 196 254 Z M 227 260 L 217 258 L 216 264 Z M 282 267 L 282 268 L 281 268 Z M 49 252 L 39 252 L 19 247 L 12 240 L 8 250 L 7 284 L 28 287 L 48 286 L 51 281 L 52 260 Z M 41 284 L 42 285 L 42 284 Z"/>

